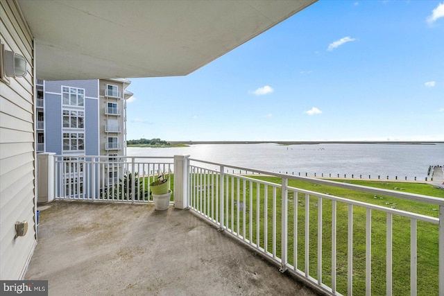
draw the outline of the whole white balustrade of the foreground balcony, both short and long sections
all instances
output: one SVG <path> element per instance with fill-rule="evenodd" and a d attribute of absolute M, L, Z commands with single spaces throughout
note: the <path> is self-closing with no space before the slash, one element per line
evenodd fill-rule
<path fill-rule="evenodd" d="M 57 157 L 56 198 L 151 202 L 157 173 L 180 170 L 176 157 L 82 157 L 81 166 Z M 184 163 L 174 189 L 183 188 L 189 209 L 282 272 L 330 295 L 444 295 L 444 199 L 186 157 Z"/>

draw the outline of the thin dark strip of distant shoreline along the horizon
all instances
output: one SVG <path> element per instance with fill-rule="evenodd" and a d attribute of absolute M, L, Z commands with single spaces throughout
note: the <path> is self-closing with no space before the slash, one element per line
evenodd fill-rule
<path fill-rule="evenodd" d="M 316 145 L 316 144 L 398 144 L 398 145 L 436 145 L 444 141 L 169 141 L 171 145 L 198 144 L 260 144 L 275 143 L 279 145 Z"/>

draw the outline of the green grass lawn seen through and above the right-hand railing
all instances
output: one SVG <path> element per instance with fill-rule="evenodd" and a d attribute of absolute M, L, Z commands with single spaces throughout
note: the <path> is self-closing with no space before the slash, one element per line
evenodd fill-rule
<path fill-rule="evenodd" d="M 207 189 L 195 190 L 198 196 L 198 204 L 203 204 L 207 200 L 207 206 L 200 207 L 200 211 L 209 216 L 216 210 L 216 202 L 212 205 L 212 191 L 216 191 L 218 177 L 212 181 L 209 175 L 207 178 Z M 259 180 L 280 184 L 278 177 L 255 177 Z M 418 193 L 444 198 L 444 190 L 436 189 L 429 184 L 404 183 L 404 182 L 370 182 L 370 181 L 345 181 L 352 184 L 373 186 L 382 189 L 395 191 Z M 211 187 L 208 185 L 212 185 Z M 225 180 L 225 186 L 227 181 Z M 413 202 L 400 198 L 388 196 L 376 196 L 372 193 L 361 193 L 350 191 L 333 186 L 323 186 L 289 180 L 289 186 L 319 193 L 328 193 L 341 198 L 358 200 L 377 204 L 382 207 L 395 207 L 403 211 L 426 216 L 438 217 L 438 206 Z M 211 188 L 211 189 L 210 189 Z M 239 234 L 244 238 L 258 243 L 268 252 L 273 252 L 275 245 L 275 256 L 281 256 L 281 191 L 273 186 L 241 180 L 238 184 L 236 179 L 229 178 L 228 193 L 225 192 L 225 209 L 228 207 L 228 215 L 225 211 L 225 225 L 233 227 L 234 232 L 239 228 Z M 239 188 L 239 190 L 238 190 Z M 239 191 L 239 198 L 237 192 Z M 273 193 L 274 191 L 274 193 Z M 265 194 L 266 207 L 265 207 Z M 273 207 L 273 195 L 275 196 L 275 207 Z M 258 200 L 259 198 L 259 207 Z M 233 204 L 233 207 L 232 207 Z M 237 205 L 239 204 L 239 210 Z M 240 207 L 240 204 L 242 207 Z M 293 211 L 297 207 L 298 243 L 294 250 L 293 238 Z M 294 254 L 296 254 L 297 267 L 305 272 L 305 256 L 309 256 L 309 275 L 318 278 L 318 208 L 317 197 L 310 196 L 308 202 L 305 194 L 298 193 L 296 196 L 289 191 L 288 203 L 288 262 L 293 265 Z M 309 252 L 305 253 L 305 214 L 308 207 L 309 213 Z M 332 201 L 323 198 L 322 200 L 322 280 L 327 286 L 332 286 Z M 266 211 L 266 214 L 265 214 Z M 275 239 L 273 239 L 273 211 L 275 211 Z M 259 212 L 259 214 L 258 214 Z M 343 295 L 347 294 L 347 256 L 348 256 L 348 204 L 336 203 L 336 290 Z M 237 216 L 239 214 L 239 225 Z M 259 229 L 257 224 L 259 223 Z M 265 223 L 268 236 L 265 240 Z M 251 225 L 251 228 L 250 228 Z M 366 209 L 363 207 L 353 207 L 353 293 L 354 295 L 365 294 L 365 270 L 366 270 Z M 372 211 L 372 295 L 386 294 L 386 213 Z M 245 229 L 245 231 L 244 231 Z M 250 230 L 251 229 L 251 230 Z M 259 232 L 259 241 L 257 240 Z M 438 225 L 418 221 L 418 295 L 438 295 Z M 409 295 L 410 290 L 410 219 L 401 216 L 393 216 L 393 295 Z"/>

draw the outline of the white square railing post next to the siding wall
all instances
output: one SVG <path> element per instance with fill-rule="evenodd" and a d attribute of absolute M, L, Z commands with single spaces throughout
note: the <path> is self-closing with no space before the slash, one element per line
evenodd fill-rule
<path fill-rule="evenodd" d="M 54 200 L 54 155 L 37 153 L 37 202 Z"/>

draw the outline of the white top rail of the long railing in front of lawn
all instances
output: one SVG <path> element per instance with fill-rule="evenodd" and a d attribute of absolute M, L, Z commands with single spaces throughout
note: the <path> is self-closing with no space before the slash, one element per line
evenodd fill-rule
<path fill-rule="evenodd" d="M 314 184 L 320 184 L 320 185 L 325 185 L 325 186 L 334 186 L 334 187 L 339 187 L 342 189 L 350 189 L 350 190 L 379 194 L 379 195 L 390 195 L 394 198 L 404 198 L 407 200 L 413 200 L 413 201 L 417 201 L 417 202 L 425 202 L 428 204 L 438 204 L 440 206 L 444 206 L 444 198 L 436 198 L 436 197 L 428 196 L 428 195 L 420 195 L 420 194 L 415 194 L 415 193 L 401 193 L 398 191 L 393 191 L 393 190 L 388 190 L 388 189 L 378 189 L 375 187 L 369 187 L 369 186 L 363 186 L 363 185 L 357 185 L 357 184 L 348 184 L 348 183 L 342 183 L 342 182 L 336 182 L 336 181 L 330 181 L 330 180 L 323 180 L 323 179 L 318 179 L 318 178 L 314 178 L 314 177 L 301 177 L 301 176 L 294 176 L 294 175 L 286 175 L 286 174 L 282 174 L 282 173 L 273 173 L 273 172 L 268 172 L 268 171 L 256 170 L 256 169 L 252 169 L 252 168 L 245 168 L 242 166 L 232 166 L 230 164 L 207 162 L 205 160 L 200 160 L 200 159 L 190 158 L 189 160 L 194 161 L 194 162 L 201 162 L 204 164 L 212 164 L 215 166 L 223 166 L 224 168 L 235 168 L 235 169 L 239 169 L 241 171 L 250 171 L 250 172 L 260 173 L 260 174 L 269 175 L 272 177 L 287 178 L 289 180 L 299 180 L 299 181 L 304 181 L 304 182 L 309 182 L 309 183 L 314 183 Z"/>

